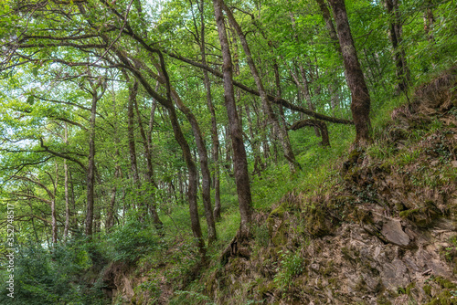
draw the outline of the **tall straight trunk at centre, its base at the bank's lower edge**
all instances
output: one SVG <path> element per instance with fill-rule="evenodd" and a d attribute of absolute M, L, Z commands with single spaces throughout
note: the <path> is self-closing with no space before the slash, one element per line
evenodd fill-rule
<path fill-rule="evenodd" d="M 237 193 L 239 199 L 239 238 L 243 239 L 250 235 L 250 215 L 251 215 L 251 195 L 250 195 L 250 177 L 248 173 L 248 161 L 246 150 L 244 148 L 243 134 L 241 123 L 235 102 L 235 92 L 233 89 L 233 72 L 230 49 L 224 16 L 220 0 L 213 0 L 216 24 L 218 26 L 218 37 L 222 48 L 223 57 L 223 80 L 224 80 L 224 98 L 228 114 L 228 128 L 233 148 L 233 161 L 235 170 L 235 181 L 237 184 Z"/>

